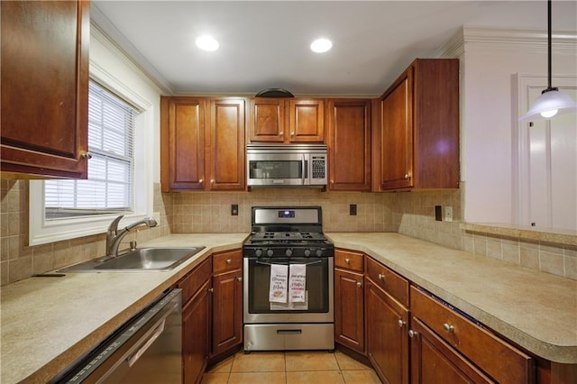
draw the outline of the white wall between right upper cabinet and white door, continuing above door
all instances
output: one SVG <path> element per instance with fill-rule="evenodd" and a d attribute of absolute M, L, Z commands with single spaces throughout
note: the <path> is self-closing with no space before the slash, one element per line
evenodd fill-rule
<path fill-rule="evenodd" d="M 462 164 L 464 221 L 517 222 L 517 73 L 546 75 L 545 32 L 463 30 Z M 577 72 L 575 34 L 554 33 L 554 74 Z M 521 111 L 525 113 L 525 111 Z"/>

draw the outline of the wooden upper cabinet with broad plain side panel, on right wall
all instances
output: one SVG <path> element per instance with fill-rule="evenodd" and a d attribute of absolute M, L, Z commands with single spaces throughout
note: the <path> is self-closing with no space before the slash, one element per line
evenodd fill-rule
<path fill-rule="evenodd" d="M 459 60 L 416 59 L 380 106 L 380 190 L 459 187 Z"/>

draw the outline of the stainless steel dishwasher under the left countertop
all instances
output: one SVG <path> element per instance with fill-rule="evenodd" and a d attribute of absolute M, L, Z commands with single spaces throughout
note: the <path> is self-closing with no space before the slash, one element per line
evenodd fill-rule
<path fill-rule="evenodd" d="M 50 383 L 182 383 L 182 293 L 173 289 Z"/>

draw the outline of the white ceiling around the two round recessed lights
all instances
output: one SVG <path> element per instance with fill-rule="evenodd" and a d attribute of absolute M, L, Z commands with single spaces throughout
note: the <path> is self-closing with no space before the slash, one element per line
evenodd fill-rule
<path fill-rule="evenodd" d="M 547 29 L 546 1 L 105 1 L 92 19 L 165 94 L 378 96 L 415 58 L 464 27 Z M 553 2 L 553 30 L 577 31 L 577 1 Z M 198 35 L 220 42 L 198 50 Z M 333 50 L 308 49 L 328 37 Z M 544 71 L 546 63 L 544 62 Z"/>

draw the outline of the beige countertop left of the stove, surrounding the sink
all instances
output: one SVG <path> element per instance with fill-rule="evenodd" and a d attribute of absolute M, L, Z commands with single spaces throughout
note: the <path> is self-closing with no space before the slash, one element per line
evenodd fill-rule
<path fill-rule="evenodd" d="M 47 382 L 211 253 L 241 248 L 247 236 L 171 234 L 141 244 L 206 247 L 174 270 L 67 273 L 2 287 L 0 382 Z"/>

